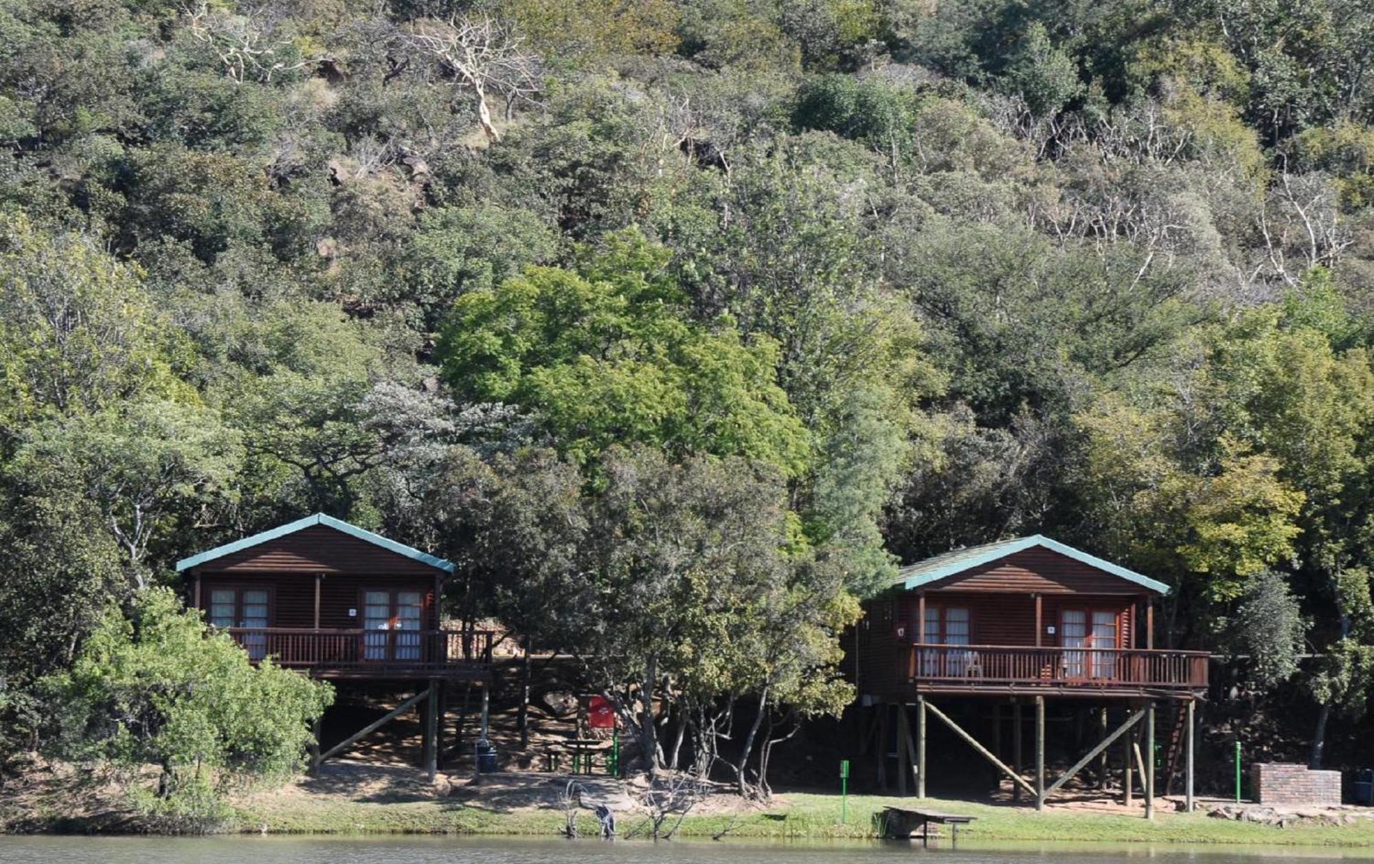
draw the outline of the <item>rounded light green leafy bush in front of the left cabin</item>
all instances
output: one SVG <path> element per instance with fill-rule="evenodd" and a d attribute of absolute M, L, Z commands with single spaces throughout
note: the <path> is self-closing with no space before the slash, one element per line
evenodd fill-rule
<path fill-rule="evenodd" d="M 302 768 L 311 726 L 334 698 L 269 659 L 254 666 L 165 587 L 139 592 L 129 616 L 107 608 L 71 670 L 41 689 L 58 720 L 56 754 L 131 784 L 159 768 L 155 788 L 132 788 L 131 803 L 181 827 L 221 819 L 235 783 Z"/>

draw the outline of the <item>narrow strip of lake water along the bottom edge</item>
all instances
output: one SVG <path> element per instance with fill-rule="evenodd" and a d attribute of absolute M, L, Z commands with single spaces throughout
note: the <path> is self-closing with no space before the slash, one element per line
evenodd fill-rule
<path fill-rule="evenodd" d="M 896 856 L 896 857 L 894 857 Z M 1112 864 L 1149 858 L 1154 864 L 1276 864 L 1279 861 L 1374 861 L 1367 849 L 1259 849 L 1217 846 L 1039 845 L 959 849 L 907 843 L 720 843 L 673 841 L 559 841 L 484 838 L 330 838 L 330 836 L 0 836 L 0 864 L 872 864 L 929 858 L 933 864 Z"/>

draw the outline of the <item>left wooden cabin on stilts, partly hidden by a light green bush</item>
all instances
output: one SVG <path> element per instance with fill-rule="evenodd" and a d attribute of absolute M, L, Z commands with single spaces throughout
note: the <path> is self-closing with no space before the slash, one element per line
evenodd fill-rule
<path fill-rule="evenodd" d="M 440 598 L 453 564 L 317 513 L 183 559 L 177 572 L 190 604 L 253 660 L 272 658 L 339 691 L 398 699 L 323 751 L 316 726 L 312 769 L 414 709 L 433 780 L 459 685 L 464 713 L 471 688 L 481 688 L 485 733 L 492 633 L 442 626 Z"/>

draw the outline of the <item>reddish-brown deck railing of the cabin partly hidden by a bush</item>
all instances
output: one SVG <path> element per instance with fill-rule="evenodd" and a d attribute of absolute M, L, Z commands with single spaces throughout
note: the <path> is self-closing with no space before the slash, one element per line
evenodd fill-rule
<path fill-rule="evenodd" d="M 311 630 L 229 627 L 253 660 L 319 674 L 447 674 L 492 662 L 489 630 Z"/>

